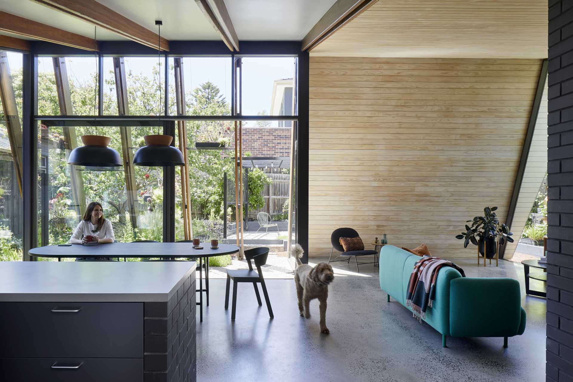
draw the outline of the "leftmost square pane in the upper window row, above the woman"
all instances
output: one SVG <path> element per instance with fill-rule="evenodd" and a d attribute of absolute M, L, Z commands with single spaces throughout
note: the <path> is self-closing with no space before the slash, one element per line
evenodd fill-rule
<path fill-rule="evenodd" d="M 94 56 L 38 57 L 38 115 L 96 115 L 97 70 Z"/>

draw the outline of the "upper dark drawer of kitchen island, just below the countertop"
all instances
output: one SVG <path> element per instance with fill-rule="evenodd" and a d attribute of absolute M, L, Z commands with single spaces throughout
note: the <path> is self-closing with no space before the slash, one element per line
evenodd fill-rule
<path fill-rule="evenodd" d="M 0 357 L 142 358 L 143 303 L 0 302 Z"/>

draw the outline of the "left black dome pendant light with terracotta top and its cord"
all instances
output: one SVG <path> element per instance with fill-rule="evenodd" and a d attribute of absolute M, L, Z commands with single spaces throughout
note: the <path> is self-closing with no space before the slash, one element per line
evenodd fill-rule
<path fill-rule="evenodd" d="M 93 30 L 93 41 L 96 41 L 96 27 Z M 99 70 L 97 70 L 97 50 L 94 49 L 96 57 L 96 84 L 99 84 Z M 93 91 L 93 123 L 96 123 L 96 104 L 97 104 L 97 86 Z M 119 152 L 111 147 L 108 147 L 111 141 L 110 137 L 97 135 L 83 135 L 80 137 L 84 143 L 83 146 L 76 147 L 70 152 L 68 156 L 68 164 L 75 164 L 76 166 L 94 166 L 94 167 L 119 167 L 121 164 L 121 157 Z"/>

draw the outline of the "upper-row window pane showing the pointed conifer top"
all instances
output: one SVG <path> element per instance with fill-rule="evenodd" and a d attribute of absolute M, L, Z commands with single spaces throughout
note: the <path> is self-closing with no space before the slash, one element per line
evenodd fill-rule
<path fill-rule="evenodd" d="M 231 57 L 182 57 L 186 115 L 231 113 Z M 177 115 L 175 58 L 169 58 L 169 113 Z"/>

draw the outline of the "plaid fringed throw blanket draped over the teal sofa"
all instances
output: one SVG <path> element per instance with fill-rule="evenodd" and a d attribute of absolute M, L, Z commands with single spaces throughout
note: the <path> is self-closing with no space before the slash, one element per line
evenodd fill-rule
<path fill-rule="evenodd" d="M 435 280 L 438 278 L 438 271 L 441 267 L 450 266 L 457 269 L 462 277 L 465 277 L 464 270 L 451 261 L 439 257 L 423 257 L 414 265 L 414 270 L 408 282 L 408 293 L 406 294 L 406 306 L 411 306 L 414 311 L 413 316 L 422 322 L 426 319 L 426 309 L 433 305 L 435 299 Z"/>

